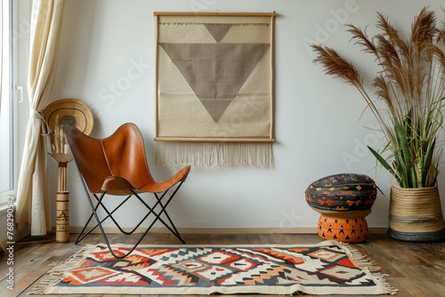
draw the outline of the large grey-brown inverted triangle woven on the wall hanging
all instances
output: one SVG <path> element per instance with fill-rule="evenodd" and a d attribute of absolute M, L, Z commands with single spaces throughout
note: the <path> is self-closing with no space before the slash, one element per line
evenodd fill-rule
<path fill-rule="evenodd" d="M 215 123 L 223 116 L 231 100 L 237 96 L 271 46 L 167 43 L 159 45 L 174 62 Z"/>

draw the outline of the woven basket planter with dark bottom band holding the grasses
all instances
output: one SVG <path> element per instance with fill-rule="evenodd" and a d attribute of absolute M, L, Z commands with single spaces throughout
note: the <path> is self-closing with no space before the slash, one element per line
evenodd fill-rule
<path fill-rule="evenodd" d="M 389 237 L 415 242 L 445 239 L 437 187 L 409 189 L 392 186 L 389 214 Z"/>

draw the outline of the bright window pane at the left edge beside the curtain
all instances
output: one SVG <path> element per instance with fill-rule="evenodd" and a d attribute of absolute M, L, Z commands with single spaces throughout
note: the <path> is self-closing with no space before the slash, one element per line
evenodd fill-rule
<path fill-rule="evenodd" d="M 0 195 L 14 189 L 12 0 L 0 0 Z M 3 204 L 5 199 L 0 200 Z"/>

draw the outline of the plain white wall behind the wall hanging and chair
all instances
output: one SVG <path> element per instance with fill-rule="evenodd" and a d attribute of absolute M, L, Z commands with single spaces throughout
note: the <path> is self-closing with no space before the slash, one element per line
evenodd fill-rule
<path fill-rule="evenodd" d="M 374 178 L 386 195 L 378 194 L 368 224 L 387 227 L 392 178 L 374 169 L 375 159 L 364 149 L 364 144 L 380 144 L 376 133 L 366 128 L 376 122 L 368 112 L 360 118 L 366 105 L 352 86 L 325 76 L 320 65 L 312 63 L 308 44 L 326 44 L 358 62 L 358 68 L 375 69 L 373 57 L 349 43 L 350 36 L 340 22 L 362 28 L 370 25 L 368 33 L 372 34 L 376 12 L 384 12 L 407 34 L 414 16 L 425 5 L 443 20 L 440 4 L 404 0 L 66 0 L 53 100 L 85 101 L 95 116 L 93 137 L 109 135 L 125 122 L 138 124 L 152 174 L 164 180 L 179 168 L 154 165 L 153 12 L 197 8 L 210 12 L 276 11 L 274 167 L 192 168 L 169 213 L 178 227 L 315 227 L 319 213 L 304 200 L 308 185 L 329 174 L 363 173 Z M 28 6 L 23 4 L 18 13 L 26 20 Z M 26 45 L 23 41 L 22 46 Z M 27 58 L 23 49 L 20 51 L 24 65 Z M 135 63 L 140 64 L 140 78 L 113 94 L 109 85 L 117 84 Z M 25 84 L 26 71 L 19 71 L 19 81 Z M 373 76 L 370 73 L 365 78 Z M 26 123 L 26 102 L 20 105 L 20 115 L 21 123 Z M 23 138 L 24 126 L 20 132 Z M 50 160 L 49 170 L 55 201 L 55 161 Z M 443 179 L 441 175 L 441 192 L 445 193 Z M 70 224 L 81 226 L 89 206 L 74 165 L 69 165 L 69 191 Z M 120 219 L 124 225 L 131 224 L 139 212 L 141 208 L 134 204 Z"/>

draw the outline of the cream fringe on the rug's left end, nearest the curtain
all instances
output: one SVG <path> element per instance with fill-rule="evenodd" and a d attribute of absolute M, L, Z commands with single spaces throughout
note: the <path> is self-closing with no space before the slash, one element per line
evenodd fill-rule
<path fill-rule="evenodd" d="M 44 295 L 53 285 L 61 281 L 64 273 L 70 269 L 79 261 L 85 259 L 85 257 L 93 252 L 97 245 L 85 245 L 82 249 L 69 256 L 68 259 L 61 261 L 59 264 L 55 264 L 53 269 L 48 271 L 44 277 L 38 282 L 37 285 L 33 285 L 32 291 L 28 292 L 28 295 Z"/>

